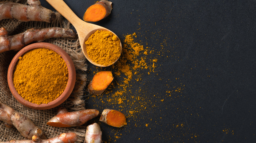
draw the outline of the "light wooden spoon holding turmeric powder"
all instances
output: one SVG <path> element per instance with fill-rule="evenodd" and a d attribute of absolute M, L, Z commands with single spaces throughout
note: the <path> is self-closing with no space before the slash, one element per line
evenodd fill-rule
<path fill-rule="evenodd" d="M 86 51 L 85 41 L 87 41 L 88 38 L 91 36 L 91 34 L 96 32 L 97 30 L 106 30 L 106 31 L 110 31 L 110 30 L 81 20 L 79 17 L 75 15 L 75 13 L 68 7 L 68 5 L 63 0 L 46 0 L 46 1 L 75 27 L 83 54 L 90 63 L 99 67 L 107 67 L 114 64 L 119 59 L 118 57 L 116 61 L 114 61 L 109 65 L 100 65 L 94 62 L 92 59 L 90 59 Z M 114 32 L 112 33 L 116 35 Z M 120 51 L 121 51 L 122 50 L 121 42 L 120 42 L 120 46 L 121 46 L 120 48 Z"/>

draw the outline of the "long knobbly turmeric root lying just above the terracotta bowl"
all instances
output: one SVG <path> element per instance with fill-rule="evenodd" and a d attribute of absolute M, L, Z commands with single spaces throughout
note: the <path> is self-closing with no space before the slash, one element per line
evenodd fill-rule
<path fill-rule="evenodd" d="M 13 36 L 7 35 L 5 28 L 0 28 L 0 53 L 9 50 L 21 50 L 31 42 L 41 42 L 49 38 L 58 37 L 75 37 L 75 32 L 72 29 L 65 29 L 59 27 L 42 28 L 42 29 L 28 29 L 23 33 Z"/>

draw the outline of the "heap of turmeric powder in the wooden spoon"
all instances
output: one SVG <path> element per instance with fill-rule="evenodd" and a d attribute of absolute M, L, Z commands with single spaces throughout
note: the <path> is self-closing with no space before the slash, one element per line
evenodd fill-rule
<path fill-rule="evenodd" d="M 89 58 L 99 65 L 111 65 L 121 55 L 120 40 L 110 31 L 97 30 L 85 44 Z"/>

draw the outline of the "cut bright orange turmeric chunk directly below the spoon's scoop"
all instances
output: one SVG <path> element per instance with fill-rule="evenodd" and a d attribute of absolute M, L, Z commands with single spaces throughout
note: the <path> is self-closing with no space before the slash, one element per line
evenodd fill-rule
<path fill-rule="evenodd" d="M 88 85 L 89 92 L 94 95 L 102 94 L 108 88 L 113 79 L 111 71 L 97 72 L 94 75 L 93 80 Z"/>

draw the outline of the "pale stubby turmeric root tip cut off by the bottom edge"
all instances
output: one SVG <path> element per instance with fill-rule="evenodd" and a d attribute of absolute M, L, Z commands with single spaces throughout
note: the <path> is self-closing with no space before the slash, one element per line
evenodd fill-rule
<path fill-rule="evenodd" d="M 101 143 L 101 135 L 99 124 L 91 124 L 86 127 L 84 143 Z"/>

